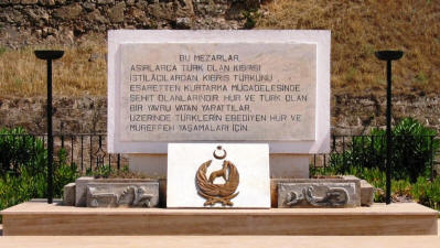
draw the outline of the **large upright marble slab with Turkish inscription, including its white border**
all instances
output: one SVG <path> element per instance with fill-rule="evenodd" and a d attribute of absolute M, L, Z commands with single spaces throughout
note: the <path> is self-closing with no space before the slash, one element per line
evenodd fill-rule
<path fill-rule="evenodd" d="M 108 46 L 109 152 L 329 150 L 329 31 L 109 31 Z"/>

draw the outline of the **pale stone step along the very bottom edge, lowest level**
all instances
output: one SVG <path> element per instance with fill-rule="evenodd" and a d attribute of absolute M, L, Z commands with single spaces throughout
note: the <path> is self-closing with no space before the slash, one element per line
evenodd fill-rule
<path fill-rule="evenodd" d="M 17 248 L 438 248 L 438 236 L 58 236 L 0 237 L 0 247 Z"/>

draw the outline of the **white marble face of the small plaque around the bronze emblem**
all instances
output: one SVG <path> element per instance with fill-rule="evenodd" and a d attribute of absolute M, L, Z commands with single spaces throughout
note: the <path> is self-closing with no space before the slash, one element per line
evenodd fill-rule
<path fill-rule="evenodd" d="M 269 208 L 269 148 L 268 144 L 229 143 L 170 143 L 168 147 L 167 207 L 204 207 L 205 198 L 197 194 L 195 175 L 202 163 L 213 160 L 211 172 L 222 169 L 223 160 L 214 159 L 213 152 L 221 144 L 239 173 L 238 195 L 233 207 Z M 218 152 L 221 154 L 221 152 Z M 214 183 L 224 183 L 216 179 Z M 214 207 L 222 207 L 216 204 Z"/>

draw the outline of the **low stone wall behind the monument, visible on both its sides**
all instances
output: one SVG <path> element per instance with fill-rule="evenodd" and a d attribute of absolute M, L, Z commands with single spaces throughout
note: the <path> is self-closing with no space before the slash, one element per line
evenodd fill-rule
<path fill-rule="evenodd" d="M 440 97 L 397 96 L 393 103 L 394 120 L 414 117 L 440 131 Z M 367 134 L 372 127 L 385 127 L 385 96 L 333 96 L 332 134 Z M 0 99 L 0 127 L 20 126 L 42 133 L 45 125 L 45 98 Z M 54 131 L 61 129 L 64 133 L 105 133 L 107 98 L 55 98 Z"/>

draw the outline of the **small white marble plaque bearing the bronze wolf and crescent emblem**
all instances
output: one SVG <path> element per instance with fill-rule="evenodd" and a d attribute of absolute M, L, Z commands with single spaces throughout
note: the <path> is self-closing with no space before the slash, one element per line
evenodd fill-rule
<path fill-rule="evenodd" d="M 170 143 L 167 207 L 270 207 L 268 144 Z"/>

